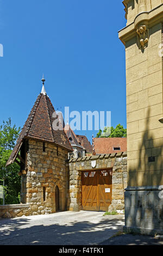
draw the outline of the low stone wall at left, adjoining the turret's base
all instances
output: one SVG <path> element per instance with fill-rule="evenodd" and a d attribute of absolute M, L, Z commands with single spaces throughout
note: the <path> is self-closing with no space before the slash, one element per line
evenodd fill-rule
<path fill-rule="evenodd" d="M 8 204 L 0 205 L 0 218 L 15 218 L 28 216 L 28 204 Z"/>

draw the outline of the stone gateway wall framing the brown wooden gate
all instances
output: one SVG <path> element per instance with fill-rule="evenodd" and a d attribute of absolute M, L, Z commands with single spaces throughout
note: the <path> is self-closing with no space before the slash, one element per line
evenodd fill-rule
<path fill-rule="evenodd" d="M 96 167 L 92 168 L 91 161 L 96 160 Z M 112 168 L 112 202 L 109 210 L 118 213 L 124 211 L 124 189 L 127 187 L 127 153 L 96 155 L 71 159 L 70 167 L 70 200 L 68 209 L 82 210 L 82 170 L 98 170 Z"/>

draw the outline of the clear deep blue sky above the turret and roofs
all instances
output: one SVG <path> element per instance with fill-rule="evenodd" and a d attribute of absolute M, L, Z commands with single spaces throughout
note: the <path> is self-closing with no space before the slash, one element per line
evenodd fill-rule
<path fill-rule="evenodd" d="M 122 0 L 0 0 L 0 123 L 24 125 L 44 74 L 55 110 L 111 111 L 126 128 L 124 15 Z"/>

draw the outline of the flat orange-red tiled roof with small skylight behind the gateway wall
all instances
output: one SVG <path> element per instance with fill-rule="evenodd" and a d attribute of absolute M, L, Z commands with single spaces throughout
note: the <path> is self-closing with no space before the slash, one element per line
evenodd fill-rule
<path fill-rule="evenodd" d="M 94 138 L 96 154 L 112 154 L 127 151 L 127 138 Z M 120 150 L 114 150 L 119 148 Z"/>

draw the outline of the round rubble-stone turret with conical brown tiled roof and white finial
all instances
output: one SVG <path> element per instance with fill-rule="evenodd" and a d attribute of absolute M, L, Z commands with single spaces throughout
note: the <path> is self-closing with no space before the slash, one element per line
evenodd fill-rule
<path fill-rule="evenodd" d="M 66 160 L 73 149 L 46 94 L 44 78 L 42 82 L 42 91 L 7 162 L 7 166 L 14 161 L 20 165 L 21 203 L 29 204 L 26 216 L 67 208 Z"/>

